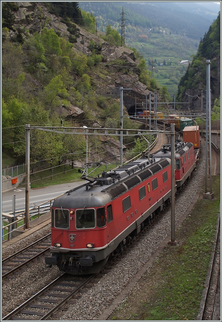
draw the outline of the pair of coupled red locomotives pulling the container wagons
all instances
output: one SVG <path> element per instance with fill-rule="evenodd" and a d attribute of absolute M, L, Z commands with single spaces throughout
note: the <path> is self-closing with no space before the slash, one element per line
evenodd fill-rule
<path fill-rule="evenodd" d="M 175 143 L 179 192 L 196 166 L 192 143 Z M 95 166 L 95 165 L 94 165 Z M 48 265 L 74 275 L 97 273 L 170 203 L 170 146 L 67 191 L 53 202 Z"/>

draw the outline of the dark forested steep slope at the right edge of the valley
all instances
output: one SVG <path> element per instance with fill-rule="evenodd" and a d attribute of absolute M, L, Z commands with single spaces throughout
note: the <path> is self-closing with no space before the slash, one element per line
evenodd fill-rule
<path fill-rule="evenodd" d="M 210 60 L 211 99 L 214 101 L 220 95 L 220 13 L 201 39 L 198 52 L 193 57 L 186 74 L 181 78 L 178 88 L 179 101 L 188 101 L 190 90 L 192 108 L 200 108 L 201 90 L 206 90 L 206 60 Z M 196 70 L 195 70 L 196 69 Z"/>

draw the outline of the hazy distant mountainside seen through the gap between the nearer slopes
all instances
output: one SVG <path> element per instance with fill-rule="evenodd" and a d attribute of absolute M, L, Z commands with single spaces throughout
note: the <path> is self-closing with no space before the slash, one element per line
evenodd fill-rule
<path fill-rule="evenodd" d="M 82 13 L 97 20 L 99 32 L 106 32 L 111 25 L 121 33 L 118 19 L 122 6 L 127 19 L 126 45 L 143 55 L 149 70 L 152 61 L 157 64 L 155 78 L 173 96 L 187 69 L 187 65 L 180 65 L 181 60 L 192 60 L 219 6 L 209 8 L 209 3 L 196 2 L 80 2 Z"/>

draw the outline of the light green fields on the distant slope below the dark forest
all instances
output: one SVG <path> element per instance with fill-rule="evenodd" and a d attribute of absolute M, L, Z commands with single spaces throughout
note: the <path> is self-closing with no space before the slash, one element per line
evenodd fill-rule
<path fill-rule="evenodd" d="M 171 96 L 177 92 L 181 77 L 185 74 L 188 65 L 180 65 L 181 60 L 191 61 L 191 55 L 196 54 L 197 41 L 188 37 L 163 34 L 147 33 L 147 41 L 135 41 L 133 36 L 126 38 L 126 44 L 136 48 L 147 62 L 148 70 L 151 70 L 148 61 L 153 59 L 157 64 L 166 62 L 166 66 L 154 64 L 154 78 L 161 86 L 165 85 Z M 170 65 L 171 63 L 171 65 Z"/>

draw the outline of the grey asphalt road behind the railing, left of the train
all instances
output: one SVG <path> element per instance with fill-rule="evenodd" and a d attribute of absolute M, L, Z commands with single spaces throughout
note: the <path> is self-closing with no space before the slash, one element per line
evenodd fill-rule
<path fill-rule="evenodd" d="M 29 205 L 30 207 L 42 204 L 43 202 L 53 199 L 64 192 L 76 188 L 84 184 L 86 181 L 66 183 L 61 185 L 50 185 L 47 187 L 40 187 L 30 189 L 29 192 Z M 25 188 L 15 188 L 10 191 L 2 193 L 2 211 L 4 213 L 12 211 L 12 197 L 15 194 L 15 210 L 25 208 Z"/>

